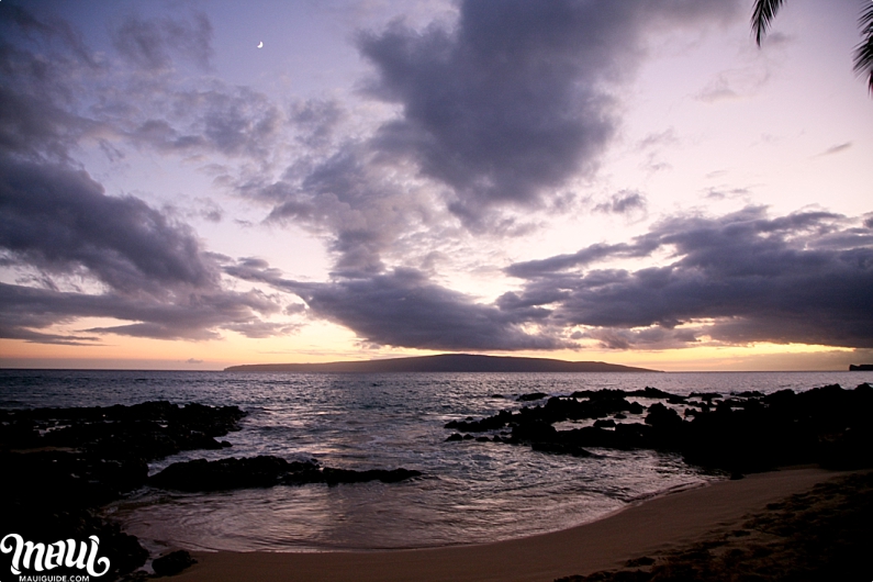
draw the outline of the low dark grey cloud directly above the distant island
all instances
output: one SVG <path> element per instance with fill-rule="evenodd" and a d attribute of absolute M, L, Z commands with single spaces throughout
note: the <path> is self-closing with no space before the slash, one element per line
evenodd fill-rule
<path fill-rule="evenodd" d="M 569 343 L 525 331 L 548 311 L 507 312 L 434 284 L 411 269 L 360 279 L 312 283 L 282 279 L 261 259 L 226 268 L 234 277 L 272 284 L 300 296 L 318 317 L 346 326 L 363 342 L 419 349 L 555 349 Z"/>

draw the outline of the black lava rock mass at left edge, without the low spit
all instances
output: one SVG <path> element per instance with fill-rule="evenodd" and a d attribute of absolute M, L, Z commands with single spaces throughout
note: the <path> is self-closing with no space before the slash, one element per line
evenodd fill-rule
<path fill-rule="evenodd" d="M 0 411 L 4 529 L 34 542 L 98 536 L 112 568 L 101 580 L 131 572 L 148 552 L 100 507 L 146 484 L 150 460 L 230 446 L 216 437 L 244 416 L 236 406 L 169 402 Z"/>

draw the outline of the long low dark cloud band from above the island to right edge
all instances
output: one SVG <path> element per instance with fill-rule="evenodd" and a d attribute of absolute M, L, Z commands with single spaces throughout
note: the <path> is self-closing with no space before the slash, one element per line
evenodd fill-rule
<path fill-rule="evenodd" d="M 429 349 L 549 349 L 592 339 L 613 349 L 703 342 L 873 347 L 873 230 L 828 212 L 768 217 L 747 208 L 721 217 L 678 216 L 630 243 L 511 265 L 521 292 L 473 302 L 421 272 L 304 283 L 257 259 L 235 277 L 299 295 L 316 316 L 379 345 Z M 593 268 L 615 259 L 669 265 Z M 575 333 L 567 335 L 572 329 Z"/>

